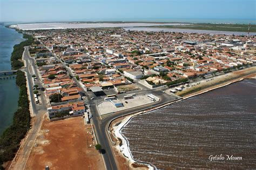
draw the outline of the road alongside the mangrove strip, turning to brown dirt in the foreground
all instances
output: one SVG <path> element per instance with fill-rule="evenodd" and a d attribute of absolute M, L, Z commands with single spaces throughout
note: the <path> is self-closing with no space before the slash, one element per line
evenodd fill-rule
<path fill-rule="evenodd" d="M 32 104 L 32 110 L 34 114 L 34 123 L 29 131 L 28 135 L 25 137 L 25 140 L 22 144 L 22 147 L 17 152 L 16 159 L 12 162 L 12 165 L 9 169 L 24 169 L 26 162 L 28 161 L 29 155 L 32 151 L 33 144 L 36 140 L 37 134 L 41 128 L 41 125 L 43 123 L 44 114 L 47 112 L 47 102 L 44 97 L 44 92 L 39 91 L 39 94 L 41 94 L 41 104 L 36 104 L 35 99 L 33 97 L 33 78 L 32 75 L 36 74 L 36 77 L 39 77 L 39 74 L 37 72 L 36 66 L 35 66 L 35 60 L 30 57 L 28 47 L 25 47 L 25 50 L 23 52 L 23 57 L 25 60 L 26 67 L 23 69 L 23 71 L 26 72 L 27 81 L 29 83 L 29 91 L 31 96 L 31 104 Z M 34 70 L 32 70 L 32 67 Z M 39 79 L 35 80 L 35 84 L 38 84 L 42 87 L 41 81 Z M 30 100 L 30 99 L 29 99 Z"/>

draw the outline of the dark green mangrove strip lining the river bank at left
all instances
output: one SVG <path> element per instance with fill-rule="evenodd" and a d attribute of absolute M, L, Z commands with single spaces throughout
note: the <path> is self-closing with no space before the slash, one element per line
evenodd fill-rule
<path fill-rule="evenodd" d="M 6 28 L 9 28 L 9 27 L 6 27 Z M 12 29 L 12 28 L 9 28 L 9 29 Z M 15 31 L 17 31 L 18 33 L 21 33 L 19 32 L 17 29 L 15 29 Z M 19 44 L 15 44 L 12 48 L 12 53 L 11 53 L 11 56 L 10 56 L 10 61 L 11 61 L 11 69 L 17 69 L 18 72 L 20 71 L 21 73 L 19 74 L 17 72 L 17 77 L 16 77 L 16 85 L 18 86 L 19 88 L 19 98 L 18 98 L 18 109 L 15 111 L 13 117 L 12 117 L 12 124 L 9 126 L 9 127 L 6 127 L 5 130 L 3 131 L 2 135 L 0 136 L 0 138 L 3 139 L 3 142 L 4 142 L 4 135 L 8 134 L 8 133 L 11 133 L 12 131 L 20 131 L 21 133 L 21 136 L 22 136 L 22 139 L 11 139 L 11 135 L 8 136 L 8 138 L 10 138 L 10 141 L 11 142 L 14 142 L 16 146 L 16 149 L 12 149 L 11 152 L 14 152 L 12 157 L 5 157 L 3 155 L 3 160 L 0 160 L 0 168 L 2 166 L 4 166 L 5 168 L 6 167 L 10 167 L 13 160 L 16 158 L 16 155 L 19 151 L 19 149 L 21 148 L 21 146 L 23 145 L 23 141 L 24 139 L 26 138 L 27 134 L 29 133 L 30 131 L 30 127 L 31 127 L 31 122 L 32 122 L 32 117 L 31 117 L 31 112 L 30 112 L 30 100 L 29 98 L 31 97 L 29 92 L 28 92 L 28 81 L 27 81 L 27 76 L 25 74 L 24 71 L 22 71 L 21 67 L 18 67 L 17 65 L 14 66 L 14 62 L 19 62 L 19 58 L 16 58 L 17 56 L 19 56 L 19 50 L 17 49 L 19 46 L 22 46 L 24 43 L 27 43 L 28 42 L 28 39 L 26 39 L 26 37 L 24 37 L 24 33 L 21 33 L 22 34 L 22 37 L 23 37 L 23 41 L 20 42 Z M 23 48 L 23 47 L 22 47 Z M 24 49 L 24 48 L 23 48 Z M 24 51 L 23 51 L 24 52 Z M 23 58 L 23 52 L 22 52 L 22 56 L 21 58 Z M 23 66 L 24 66 L 24 62 L 22 60 L 22 63 L 23 63 Z M 30 97 L 29 97 L 30 96 Z M 28 106 L 26 106 L 26 102 L 28 102 Z M 28 108 L 26 108 L 28 107 Z M 21 115 L 19 115 L 20 113 L 19 112 L 22 112 L 23 115 L 22 117 L 26 117 L 26 113 L 29 112 L 29 118 L 27 117 L 26 120 L 23 120 L 22 122 L 19 122 L 20 124 L 25 124 L 26 125 L 26 132 L 24 132 L 25 130 L 21 127 L 17 127 L 17 123 L 14 123 L 14 119 L 21 119 Z M 6 133 L 6 134 L 4 134 Z M 4 135 L 3 135 L 4 134 Z M 21 137 L 19 137 L 21 138 Z M 3 146 L 2 149 L 3 151 L 6 151 L 8 152 L 8 147 L 10 146 Z M 7 149 L 6 149 L 7 148 Z M 4 154 L 4 152 L 3 152 Z M 10 154 L 10 151 L 6 154 Z"/>

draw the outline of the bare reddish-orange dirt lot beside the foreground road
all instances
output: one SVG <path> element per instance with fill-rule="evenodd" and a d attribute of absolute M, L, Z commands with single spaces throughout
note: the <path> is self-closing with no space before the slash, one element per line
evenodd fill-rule
<path fill-rule="evenodd" d="M 105 169 L 82 117 L 44 120 L 25 169 Z"/>

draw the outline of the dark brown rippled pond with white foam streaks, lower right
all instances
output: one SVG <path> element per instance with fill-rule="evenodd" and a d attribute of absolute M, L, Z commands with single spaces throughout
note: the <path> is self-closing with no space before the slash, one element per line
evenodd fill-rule
<path fill-rule="evenodd" d="M 157 168 L 256 168 L 256 80 L 244 80 L 131 119 L 134 159 Z M 223 154 L 242 160 L 210 161 Z"/>

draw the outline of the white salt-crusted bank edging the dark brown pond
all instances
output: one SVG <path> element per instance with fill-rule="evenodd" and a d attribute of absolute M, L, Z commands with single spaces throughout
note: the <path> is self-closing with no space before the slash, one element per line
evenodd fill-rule
<path fill-rule="evenodd" d="M 163 104 L 163 105 L 160 105 L 160 106 L 156 106 L 154 108 L 151 108 L 150 110 L 146 110 L 146 111 L 142 111 L 142 112 L 138 112 L 138 113 L 134 113 L 132 115 L 127 115 L 126 117 L 124 117 L 122 120 L 118 121 L 117 123 L 115 124 L 118 124 L 117 126 L 114 126 L 112 125 L 112 123 L 110 124 L 110 127 L 113 128 L 113 137 L 114 138 L 119 138 L 122 142 L 122 145 L 117 147 L 118 148 L 118 151 L 120 151 L 123 155 L 123 157 L 129 159 L 131 162 L 133 163 L 136 163 L 136 164 L 139 164 L 139 165 L 147 165 L 147 167 L 149 169 L 155 169 L 156 167 L 154 165 L 152 165 L 150 162 L 142 162 L 142 161 L 138 161 L 138 160 L 135 160 L 133 159 L 133 155 L 130 151 L 130 146 L 129 146 L 129 140 L 122 134 L 122 128 L 124 128 L 127 124 L 129 124 L 130 120 L 133 118 L 133 117 L 136 117 L 137 115 L 140 115 L 140 114 L 146 114 L 146 113 L 150 113 L 151 111 L 154 111 L 154 110 L 157 110 L 159 108 L 163 108 L 163 107 L 166 107 L 166 106 L 169 106 L 169 105 L 172 105 L 174 103 L 178 103 L 180 101 L 183 101 L 183 100 L 186 100 L 186 99 L 189 99 L 189 98 L 192 98 L 192 97 L 196 97 L 196 96 L 200 96 L 201 94 L 204 94 L 204 93 L 207 93 L 207 92 L 210 92 L 210 91 L 213 91 L 213 90 L 216 90 L 216 89 L 220 89 L 222 87 L 225 87 L 225 86 L 228 86 L 228 85 L 231 85 L 233 83 L 237 83 L 239 81 L 242 81 L 242 80 L 245 80 L 245 79 L 256 79 L 256 76 L 254 75 L 254 77 L 252 77 L 253 73 L 252 74 L 249 74 L 249 75 L 246 75 L 244 76 L 243 78 L 239 78 L 239 79 L 235 79 L 235 80 L 231 80 L 231 81 L 227 81 L 224 85 L 220 85 L 220 86 L 217 86 L 217 87 L 212 87 L 210 89 L 205 89 L 203 91 L 198 91 L 198 92 L 194 92 L 195 94 L 191 93 L 191 94 L 187 94 L 186 96 L 184 96 L 184 98 L 182 99 L 179 99 L 177 101 L 171 101 L 170 103 L 167 103 L 167 104 Z M 248 77 L 250 76 L 250 77 Z M 114 120 L 113 120 L 114 121 Z"/>

